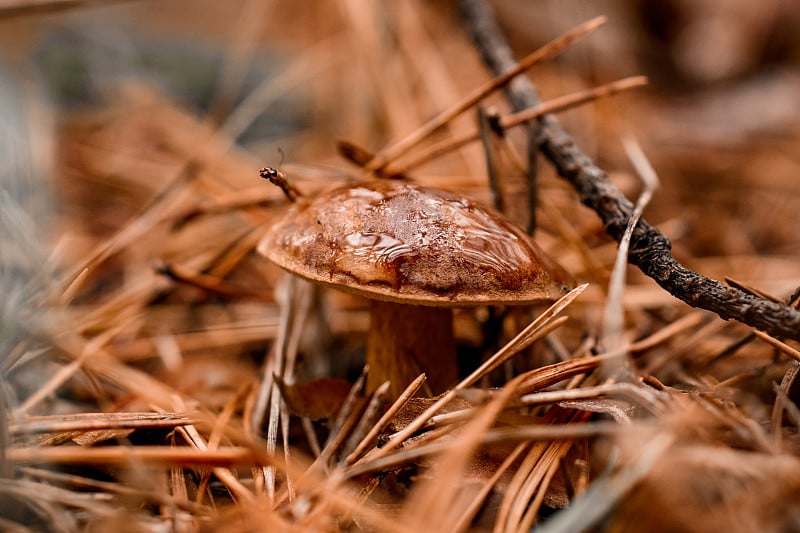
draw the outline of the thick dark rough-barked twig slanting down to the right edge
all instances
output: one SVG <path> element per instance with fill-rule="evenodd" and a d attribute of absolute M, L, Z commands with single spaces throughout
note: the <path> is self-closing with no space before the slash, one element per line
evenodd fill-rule
<path fill-rule="evenodd" d="M 511 50 L 485 0 L 462 0 L 467 27 L 484 62 L 495 75 L 515 64 Z M 518 78 L 508 86 L 509 100 L 515 109 L 540 103 L 533 84 Z M 559 121 L 545 115 L 537 119 L 539 150 L 559 175 L 572 183 L 581 201 L 594 209 L 606 232 L 617 241 L 633 214 L 633 204 L 581 151 Z M 713 311 L 721 318 L 763 330 L 775 337 L 800 340 L 800 312 L 728 287 L 717 280 L 689 270 L 672 256 L 669 239 L 640 219 L 634 229 L 628 262 L 653 278 L 663 289 L 693 307 Z"/>

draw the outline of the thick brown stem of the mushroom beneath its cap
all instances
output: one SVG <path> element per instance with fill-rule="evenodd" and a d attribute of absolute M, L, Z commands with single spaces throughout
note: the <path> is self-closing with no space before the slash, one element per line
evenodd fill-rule
<path fill-rule="evenodd" d="M 420 373 L 432 394 L 444 392 L 458 379 L 453 312 L 373 300 L 367 337 L 367 389 L 391 381 L 396 398 Z"/>

